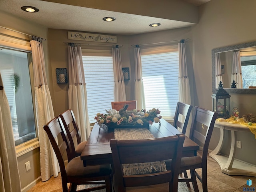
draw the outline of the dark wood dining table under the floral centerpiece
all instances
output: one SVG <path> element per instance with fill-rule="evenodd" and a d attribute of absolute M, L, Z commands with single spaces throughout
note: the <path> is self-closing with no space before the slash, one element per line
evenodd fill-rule
<path fill-rule="evenodd" d="M 164 119 L 160 119 L 159 123 L 153 122 L 147 128 L 154 138 L 181 133 Z M 110 140 L 114 138 L 114 128 L 108 128 L 104 124 L 98 125 L 95 123 L 80 156 L 84 166 L 112 164 Z M 182 157 L 196 156 L 197 150 L 199 150 L 199 145 L 186 136 L 183 144 Z"/>

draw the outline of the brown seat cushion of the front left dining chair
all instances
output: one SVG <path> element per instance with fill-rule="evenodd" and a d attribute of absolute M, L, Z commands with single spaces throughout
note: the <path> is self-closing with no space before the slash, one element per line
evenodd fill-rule
<path fill-rule="evenodd" d="M 96 165 L 84 167 L 80 157 L 73 158 L 66 166 L 66 174 L 70 176 L 104 176 L 111 173 L 110 165 Z"/>

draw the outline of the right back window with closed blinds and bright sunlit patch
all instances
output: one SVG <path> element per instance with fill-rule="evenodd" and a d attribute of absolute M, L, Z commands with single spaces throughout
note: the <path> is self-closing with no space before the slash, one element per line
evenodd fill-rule
<path fill-rule="evenodd" d="M 174 117 L 178 102 L 178 47 L 141 49 L 146 109 L 159 108 L 166 119 Z"/>

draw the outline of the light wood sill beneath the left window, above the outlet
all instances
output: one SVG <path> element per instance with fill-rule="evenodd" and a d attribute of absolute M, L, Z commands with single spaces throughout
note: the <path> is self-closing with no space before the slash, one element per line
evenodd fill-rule
<path fill-rule="evenodd" d="M 34 138 L 28 142 L 16 146 L 16 156 L 22 156 L 39 147 L 38 138 Z"/>

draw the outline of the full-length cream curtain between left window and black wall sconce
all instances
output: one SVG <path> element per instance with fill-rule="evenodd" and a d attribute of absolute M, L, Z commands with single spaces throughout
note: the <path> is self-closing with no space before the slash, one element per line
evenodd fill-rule
<path fill-rule="evenodd" d="M 50 140 L 44 131 L 44 125 L 54 118 L 54 111 L 46 80 L 42 42 L 31 40 L 30 44 L 34 72 L 36 123 L 40 145 L 41 179 L 42 181 L 46 181 L 50 179 L 52 175 L 57 177 L 58 172 L 60 172 L 56 155 L 50 144 Z"/>

